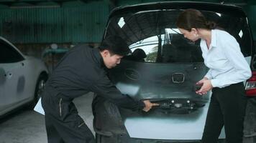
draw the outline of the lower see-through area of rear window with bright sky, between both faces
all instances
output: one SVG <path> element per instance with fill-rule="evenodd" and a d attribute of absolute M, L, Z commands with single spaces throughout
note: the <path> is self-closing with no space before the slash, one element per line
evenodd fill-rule
<path fill-rule="evenodd" d="M 142 39 L 129 48 L 132 53 L 137 49 L 145 51 L 146 62 L 201 62 L 201 49 L 198 42 L 185 39 L 178 29 L 165 29 L 164 34 Z"/>

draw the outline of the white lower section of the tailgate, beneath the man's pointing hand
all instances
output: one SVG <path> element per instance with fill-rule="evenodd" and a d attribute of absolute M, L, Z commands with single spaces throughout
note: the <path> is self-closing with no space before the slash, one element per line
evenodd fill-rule
<path fill-rule="evenodd" d="M 208 107 L 209 103 L 191 114 L 157 112 L 148 116 L 127 117 L 124 125 L 132 138 L 200 140 L 204 132 Z M 222 129 L 219 139 L 224 138 Z"/>

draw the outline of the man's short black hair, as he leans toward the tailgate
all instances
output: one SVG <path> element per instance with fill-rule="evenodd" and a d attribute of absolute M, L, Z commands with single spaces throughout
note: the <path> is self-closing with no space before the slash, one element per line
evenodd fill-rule
<path fill-rule="evenodd" d="M 99 46 L 100 51 L 109 50 L 111 54 L 126 56 L 131 53 L 127 42 L 120 36 L 107 36 Z"/>

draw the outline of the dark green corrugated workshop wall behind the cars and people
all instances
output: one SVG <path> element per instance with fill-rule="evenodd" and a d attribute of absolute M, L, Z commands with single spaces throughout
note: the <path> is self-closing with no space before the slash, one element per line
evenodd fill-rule
<path fill-rule="evenodd" d="M 68 49 L 76 44 L 98 46 L 111 9 L 116 6 L 155 1 L 1 0 L 0 35 L 15 44 L 24 54 L 45 58 L 49 55 L 44 50 L 50 48 L 51 44 L 57 44 L 58 49 Z M 248 16 L 253 39 L 256 41 L 255 0 L 204 0 L 204 2 L 241 6 Z M 53 61 L 48 59 L 47 62 L 51 64 Z"/>

